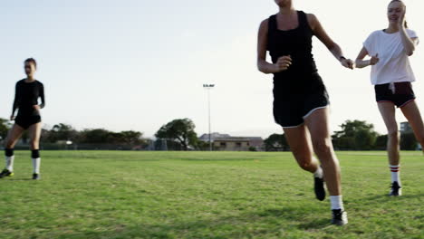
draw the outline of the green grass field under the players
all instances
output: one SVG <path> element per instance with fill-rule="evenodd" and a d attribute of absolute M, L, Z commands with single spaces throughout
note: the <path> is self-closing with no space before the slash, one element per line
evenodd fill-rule
<path fill-rule="evenodd" d="M 338 152 L 345 226 L 290 153 L 43 151 L 40 181 L 15 155 L 0 238 L 424 238 L 419 152 L 401 153 L 400 197 L 384 152 Z"/>

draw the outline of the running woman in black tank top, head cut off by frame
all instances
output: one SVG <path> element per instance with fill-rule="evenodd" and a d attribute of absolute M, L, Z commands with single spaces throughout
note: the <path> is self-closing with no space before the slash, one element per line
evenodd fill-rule
<path fill-rule="evenodd" d="M 314 191 L 325 198 L 325 181 L 332 202 L 332 224 L 344 225 L 347 215 L 342 206 L 339 161 L 332 148 L 328 126 L 329 99 L 313 60 L 312 37 L 315 35 L 346 68 L 351 60 L 343 57 L 337 43 L 325 33 L 313 14 L 295 11 L 292 0 L 275 0 L 279 12 L 259 27 L 257 67 L 274 74 L 274 117 L 300 167 L 313 173 Z M 272 63 L 266 62 L 266 52 Z M 318 160 L 313 158 L 313 152 Z"/>

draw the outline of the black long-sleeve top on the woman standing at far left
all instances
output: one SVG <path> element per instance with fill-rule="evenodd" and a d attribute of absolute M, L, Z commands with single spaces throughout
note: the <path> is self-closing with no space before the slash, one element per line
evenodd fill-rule
<path fill-rule="evenodd" d="M 14 111 L 19 109 L 18 115 L 32 116 L 40 115 L 39 110 L 34 109 L 34 105 L 38 105 L 38 98 L 41 98 L 40 108 L 45 105 L 44 86 L 40 81 L 25 82 L 25 80 L 17 81 L 14 91 Z"/>

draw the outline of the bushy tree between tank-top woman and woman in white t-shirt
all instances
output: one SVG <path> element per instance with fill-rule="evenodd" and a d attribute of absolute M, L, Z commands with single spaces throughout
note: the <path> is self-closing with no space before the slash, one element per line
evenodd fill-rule
<path fill-rule="evenodd" d="M 332 135 L 334 148 L 370 150 L 374 147 L 378 134 L 372 124 L 361 120 L 346 120 L 341 128 Z"/>

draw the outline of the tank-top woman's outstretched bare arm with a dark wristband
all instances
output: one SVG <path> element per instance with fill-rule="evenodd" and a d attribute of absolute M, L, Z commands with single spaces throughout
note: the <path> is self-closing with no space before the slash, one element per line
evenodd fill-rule
<path fill-rule="evenodd" d="M 353 69 L 354 64 L 352 60 L 344 58 L 342 48 L 332 41 L 330 36 L 323 29 L 323 25 L 318 21 L 318 18 L 314 14 L 307 14 L 307 18 L 313 33 L 327 47 L 337 61 L 341 62 L 342 66 Z"/>

